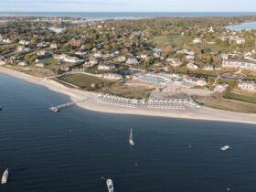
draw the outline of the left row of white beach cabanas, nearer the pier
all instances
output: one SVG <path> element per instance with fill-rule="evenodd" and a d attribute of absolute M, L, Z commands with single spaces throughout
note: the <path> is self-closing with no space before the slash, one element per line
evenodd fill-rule
<path fill-rule="evenodd" d="M 99 95 L 97 102 L 132 108 L 137 107 L 139 104 L 138 100 L 123 98 L 110 94 Z"/>

